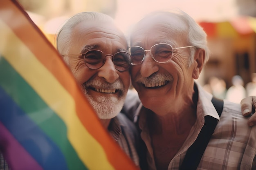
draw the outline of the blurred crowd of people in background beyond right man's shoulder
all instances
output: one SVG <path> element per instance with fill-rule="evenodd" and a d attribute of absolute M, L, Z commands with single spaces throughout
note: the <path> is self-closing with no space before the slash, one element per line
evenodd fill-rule
<path fill-rule="evenodd" d="M 226 82 L 220 77 L 210 77 L 204 89 L 219 99 L 227 99 L 230 102 L 240 104 L 240 101 L 248 96 L 256 96 L 256 73 L 252 73 L 251 82 L 244 84 L 240 75 L 232 77 L 232 86 L 227 88 Z"/>

